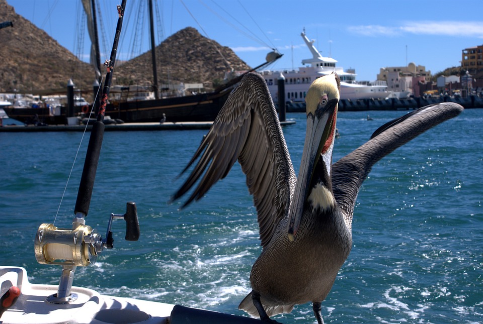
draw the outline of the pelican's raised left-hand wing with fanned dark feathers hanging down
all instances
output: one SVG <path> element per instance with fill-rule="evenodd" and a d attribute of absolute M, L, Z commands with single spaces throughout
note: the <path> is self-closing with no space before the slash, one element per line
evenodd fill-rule
<path fill-rule="evenodd" d="M 280 219 L 288 212 L 295 173 L 275 106 L 261 75 L 244 76 L 183 172 L 198 158 L 173 200 L 201 178 L 184 206 L 200 199 L 238 160 L 253 195 L 260 239 L 265 247 Z"/>

